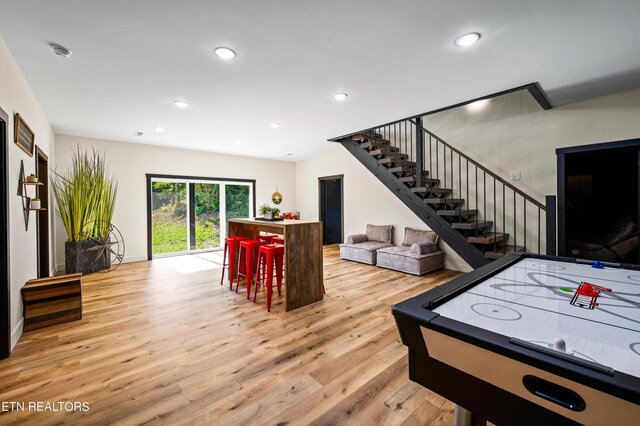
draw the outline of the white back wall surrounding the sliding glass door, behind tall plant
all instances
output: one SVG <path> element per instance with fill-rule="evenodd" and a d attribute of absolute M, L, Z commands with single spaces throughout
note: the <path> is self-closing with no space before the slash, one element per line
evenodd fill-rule
<path fill-rule="evenodd" d="M 147 259 L 146 174 L 166 174 L 256 180 L 256 205 L 271 202 L 278 187 L 283 196 L 281 211 L 296 207 L 295 164 L 224 154 L 163 148 L 152 145 L 56 135 L 59 171 L 69 166 L 77 146 L 104 151 L 111 174 L 118 180 L 118 197 L 113 224 L 126 244 L 125 262 Z M 265 147 L 265 149 L 267 149 Z M 56 253 L 58 269 L 64 269 L 66 233 L 57 220 Z"/>

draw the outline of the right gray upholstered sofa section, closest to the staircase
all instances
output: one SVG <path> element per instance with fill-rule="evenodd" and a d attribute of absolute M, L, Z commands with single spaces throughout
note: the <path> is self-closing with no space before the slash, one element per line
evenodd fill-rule
<path fill-rule="evenodd" d="M 444 267 L 444 253 L 438 250 L 438 235 L 433 231 L 405 228 L 401 246 L 378 250 L 376 265 L 414 275 Z"/>

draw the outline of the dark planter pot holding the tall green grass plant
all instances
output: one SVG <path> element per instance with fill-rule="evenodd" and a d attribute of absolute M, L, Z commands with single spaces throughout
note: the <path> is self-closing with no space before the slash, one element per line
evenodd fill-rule
<path fill-rule="evenodd" d="M 82 275 L 109 269 L 110 257 L 102 246 L 108 238 L 100 242 L 85 240 L 64 244 L 64 266 L 67 274 L 81 273 Z"/>

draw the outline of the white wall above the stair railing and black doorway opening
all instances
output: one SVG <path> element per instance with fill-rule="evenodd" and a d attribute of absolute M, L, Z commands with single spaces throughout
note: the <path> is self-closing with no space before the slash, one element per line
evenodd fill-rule
<path fill-rule="evenodd" d="M 557 191 L 556 148 L 640 138 L 640 89 L 542 110 L 527 94 L 470 112 L 427 117 L 425 128 L 544 202 Z M 604 164 L 603 167 L 613 165 Z"/>

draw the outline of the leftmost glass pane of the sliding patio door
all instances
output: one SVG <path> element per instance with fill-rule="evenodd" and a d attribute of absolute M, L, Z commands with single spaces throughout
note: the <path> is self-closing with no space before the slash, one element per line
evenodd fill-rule
<path fill-rule="evenodd" d="M 153 254 L 187 251 L 187 185 L 152 182 Z"/>

